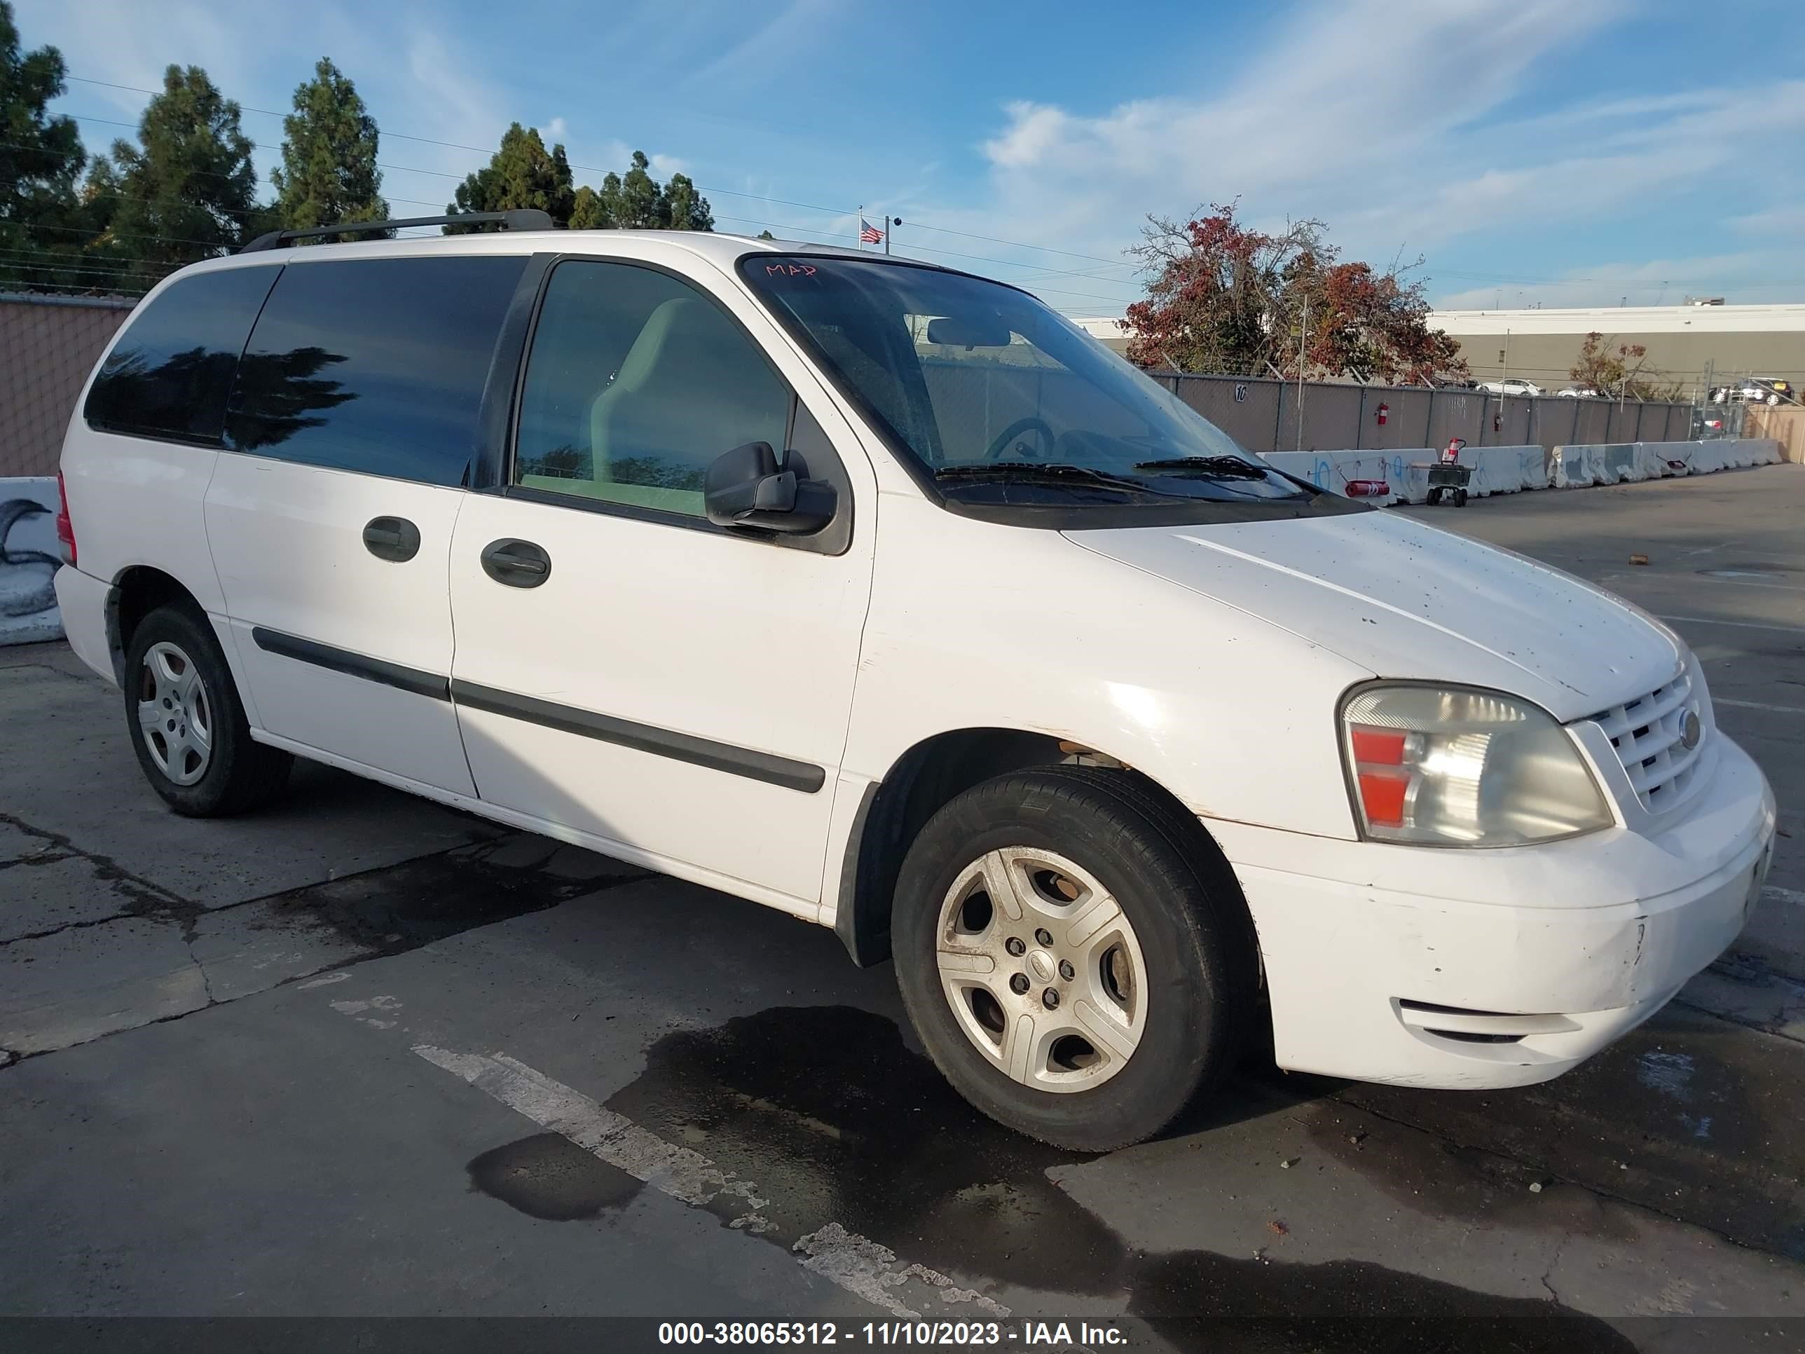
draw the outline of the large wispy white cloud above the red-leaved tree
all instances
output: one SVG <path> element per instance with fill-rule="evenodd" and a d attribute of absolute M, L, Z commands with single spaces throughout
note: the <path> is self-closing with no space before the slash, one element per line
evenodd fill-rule
<path fill-rule="evenodd" d="M 1390 258 L 1513 224 L 1646 209 L 1722 173 L 1726 191 L 1778 199 L 1747 229 L 1794 220 L 1796 168 L 1771 161 L 1756 179 L 1727 175 L 1753 144 L 1805 137 L 1805 81 L 1747 70 L 1722 88 L 1576 97 L 1498 117 L 1547 60 L 1624 13 L 1624 0 L 1323 0 L 1206 96 L 1096 116 L 1007 105 L 980 146 L 993 213 L 1108 256 L 1134 242 L 1144 211 L 1240 197 L 1256 224 L 1321 217 L 1348 253 Z"/>

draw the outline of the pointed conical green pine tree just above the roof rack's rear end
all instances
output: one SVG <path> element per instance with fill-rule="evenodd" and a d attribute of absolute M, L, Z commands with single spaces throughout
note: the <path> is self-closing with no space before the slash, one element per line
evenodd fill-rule
<path fill-rule="evenodd" d="M 319 58 L 314 78 L 296 87 L 282 132 L 282 168 L 271 173 L 280 229 L 388 217 L 375 119 L 330 60 Z"/>

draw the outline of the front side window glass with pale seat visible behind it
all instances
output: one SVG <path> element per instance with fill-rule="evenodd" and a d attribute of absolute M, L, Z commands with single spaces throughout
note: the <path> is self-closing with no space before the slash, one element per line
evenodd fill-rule
<path fill-rule="evenodd" d="M 789 410 L 717 301 L 655 269 L 569 260 L 532 334 L 513 484 L 702 516 L 709 462 L 745 442 L 782 455 Z"/>

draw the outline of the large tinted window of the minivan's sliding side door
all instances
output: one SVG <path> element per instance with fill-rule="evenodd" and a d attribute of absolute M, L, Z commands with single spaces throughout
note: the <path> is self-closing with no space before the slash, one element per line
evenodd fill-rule
<path fill-rule="evenodd" d="M 256 321 L 226 442 L 460 484 L 522 255 L 291 264 Z"/>

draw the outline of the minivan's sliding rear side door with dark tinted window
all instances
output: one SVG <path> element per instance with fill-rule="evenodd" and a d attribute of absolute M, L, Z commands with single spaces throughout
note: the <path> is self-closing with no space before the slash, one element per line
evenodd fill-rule
<path fill-rule="evenodd" d="M 523 269 L 518 255 L 296 260 L 276 280 L 206 527 L 251 719 L 285 744 L 475 794 L 446 572 Z"/>

